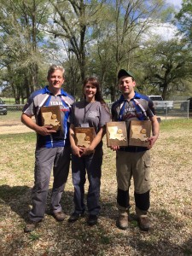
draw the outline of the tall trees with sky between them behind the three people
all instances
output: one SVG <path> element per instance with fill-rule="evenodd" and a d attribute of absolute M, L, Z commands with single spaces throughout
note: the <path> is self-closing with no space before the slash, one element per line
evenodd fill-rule
<path fill-rule="evenodd" d="M 2 0 L 2 95 L 23 103 L 46 84 L 52 63 L 65 67 L 65 88 L 76 98 L 84 78 L 95 75 L 113 101 L 119 68 L 131 70 L 148 95 L 189 95 L 191 11 L 191 0 L 179 12 L 164 0 Z M 177 26 L 174 39 L 152 32 L 162 24 Z"/>

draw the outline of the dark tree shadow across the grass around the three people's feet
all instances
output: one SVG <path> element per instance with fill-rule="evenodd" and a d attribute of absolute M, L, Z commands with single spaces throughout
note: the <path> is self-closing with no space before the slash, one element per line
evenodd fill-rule
<path fill-rule="evenodd" d="M 49 189 L 47 213 L 49 212 L 50 195 L 51 189 Z M 0 199 L 2 204 L 9 206 L 12 212 L 16 212 L 26 220 L 29 204 L 31 203 L 31 188 L 27 186 L 10 187 L 9 185 L 2 185 L 0 186 Z M 61 205 L 68 215 L 73 212 L 73 191 L 64 192 Z M 15 236 L 15 240 L 12 240 L 7 247 L 13 247 L 14 252 L 15 241 L 22 244 L 23 250 L 25 247 L 29 249 L 29 241 L 34 244 L 36 241 L 47 241 L 47 247 L 44 249 L 49 252 L 49 248 L 54 242 L 55 255 L 56 253 L 58 255 L 113 255 L 113 252 L 116 253 L 115 255 L 192 254 L 191 237 L 181 244 L 177 235 L 177 232 L 186 223 L 182 221 L 178 223 L 171 212 L 163 209 L 150 212 L 149 218 L 153 223 L 152 229 L 148 232 L 143 232 L 138 229 L 134 219 L 131 219 L 128 230 L 119 230 L 116 227 L 117 209 L 115 197 L 109 201 L 107 198 L 102 200 L 101 207 L 101 217 L 96 226 L 88 226 L 86 218 L 81 218 L 74 224 L 69 224 L 67 220 L 63 223 L 57 223 L 54 218 L 48 215 L 38 230 L 26 236 L 27 242 L 23 235 Z M 134 216 L 132 213 L 131 215 Z M 7 217 L 5 216 L 5 218 Z M 41 241 L 39 241 L 39 238 L 41 238 Z M 119 254 L 117 254 L 118 251 Z M 63 254 L 60 254 L 61 252 Z M 32 253 L 34 255 L 39 253 L 38 247 L 37 251 L 34 249 Z M 42 255 L 44 254 L 44 252 L 41 253 Z M 24 255 L 24 252 L 23 254 L 20 252 L 20 255 Z"/>

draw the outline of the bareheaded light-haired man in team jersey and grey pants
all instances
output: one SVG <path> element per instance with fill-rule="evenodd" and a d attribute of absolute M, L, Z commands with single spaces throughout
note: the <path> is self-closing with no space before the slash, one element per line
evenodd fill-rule
<path fill-rule="evenodd" d="M 25 232 L 34 230 L 44 218 L 52 168 L 54 176 L 51 195 L 52 214 L 57 221 L 62 221 L 65 218 L 60 201 L 69 172 L 68 118 L 74 100 L 72 96 L 61 89 L 61 85 L 64 83 L 64 72 L 63 67 L 55 65 L 49 67 L 47 76 L 49 85 L 32 93 L 21 115 L 21 121 L 37 133 L 32 210 L 29 212 L 30 221 L 26 224 Z M 55 131 L 52 125 L 43 125 L 41 108 L 44 106 L 59 106 L 61 130 Z M 32 116 L 35 116 L 36 122 L 32 120 Z"/>

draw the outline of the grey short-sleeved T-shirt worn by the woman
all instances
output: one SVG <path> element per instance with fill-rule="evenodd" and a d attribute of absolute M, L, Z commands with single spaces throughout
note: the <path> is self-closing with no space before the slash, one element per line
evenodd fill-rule
<path fill-rule="evenodd" d="M 101 102 L 76 102 L 73 104 L 70 123 L 75 127 L 94 127 L 96 133 L 110 121 L 110 113 Z"/>

